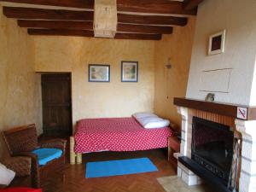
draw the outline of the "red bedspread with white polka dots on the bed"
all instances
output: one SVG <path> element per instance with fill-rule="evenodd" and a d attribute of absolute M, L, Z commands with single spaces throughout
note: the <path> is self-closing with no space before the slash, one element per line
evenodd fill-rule
<path fill-rule="evenodd" d="M 137 151 L 166 148 L 169 127 L 145 129 L 134 118 L 82 119 L 75 133 L 75 152 Z"/>

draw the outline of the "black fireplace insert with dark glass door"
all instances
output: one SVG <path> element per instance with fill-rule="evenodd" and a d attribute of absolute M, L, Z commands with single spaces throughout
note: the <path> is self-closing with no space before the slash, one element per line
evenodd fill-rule
<path fill-rule="evenodd" d="M 233 160 L 234 131 L 207 119 L 193 117 L 191 159 L 228 185 Z"/>

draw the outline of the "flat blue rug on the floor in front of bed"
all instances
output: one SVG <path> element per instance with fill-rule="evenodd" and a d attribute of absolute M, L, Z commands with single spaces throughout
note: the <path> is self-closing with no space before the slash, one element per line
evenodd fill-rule
<path fill-rule="evenodd" d="M 87 163 L 85 177 L 109 177 L 156 171 L 158 169 L 148 158 L 109 160 Z"/>

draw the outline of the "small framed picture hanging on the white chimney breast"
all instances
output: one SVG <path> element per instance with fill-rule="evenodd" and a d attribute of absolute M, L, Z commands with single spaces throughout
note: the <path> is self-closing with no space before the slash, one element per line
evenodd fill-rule
<path fill-rule="evenodd" d="M 226 31 L 218 32 L 210 36 L 208 55 L 224 53 Z"/>

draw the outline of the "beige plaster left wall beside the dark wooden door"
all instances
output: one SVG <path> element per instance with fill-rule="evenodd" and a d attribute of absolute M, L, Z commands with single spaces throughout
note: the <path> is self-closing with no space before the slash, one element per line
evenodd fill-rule
<path fill-rule="evenodd" d="M 40 79 L 34 73 L 32 39 L 15 20 L 7 20 L 0 4 L 0 131 L 36 123 L 41 133 Z M 0 139 L 0 159 L 5 151 Z"/>

